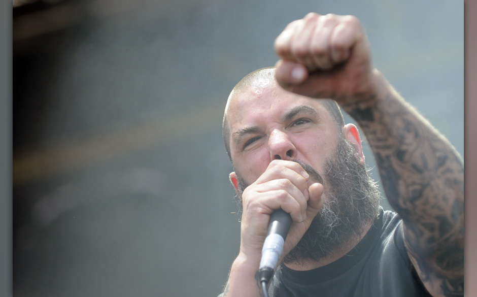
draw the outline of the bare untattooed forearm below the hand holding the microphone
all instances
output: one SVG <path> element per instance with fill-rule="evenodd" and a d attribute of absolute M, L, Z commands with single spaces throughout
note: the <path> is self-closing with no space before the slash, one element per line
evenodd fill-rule
<path fill-rule="evenodd" d="M 256 278 L 259 259 L 250 259 L 238 255 L 232 263 L 230 275 L 222 297 L 261 296 L 261 289 Z"/>

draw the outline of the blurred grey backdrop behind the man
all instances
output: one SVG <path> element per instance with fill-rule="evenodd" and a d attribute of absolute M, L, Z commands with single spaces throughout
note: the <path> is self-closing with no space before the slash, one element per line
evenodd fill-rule
<path fill-rule="evenodd" d="M 311 11 L 357 16 L 463 156 L 463 1 L 14 0 L 13 294 L 219 294 L 240 242 L 225 100 Z"/>

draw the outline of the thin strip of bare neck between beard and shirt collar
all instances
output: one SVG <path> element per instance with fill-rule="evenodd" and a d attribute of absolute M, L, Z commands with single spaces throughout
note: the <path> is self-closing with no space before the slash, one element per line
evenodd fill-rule
<path fill-rule="evenodd" d="M 343 245 L 342 248 L 338 249 L 336 252 L 328 255 L 327 257 L 324 257 L 319 260 L 304 260 L 285 263 L 285 266 L 296 271 L 307 271 L 326 266 L 348 254 L 352 249 L 354 249 L 358 245 L 358 243 L 364 238 L 364 236 L 366 236 L 366 233 L 369 231 L 369 228 L 371 227 L 372 223 L 372 220 L 366 223 L 366 225 L 364 225 L 363 231 L 359 236 L 351 239 L 347 244 Z"/>

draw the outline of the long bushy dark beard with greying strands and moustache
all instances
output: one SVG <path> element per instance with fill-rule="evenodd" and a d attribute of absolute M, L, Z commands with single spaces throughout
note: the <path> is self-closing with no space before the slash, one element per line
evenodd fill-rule
<path fill-rule="evenodd" d="M 324 174 L 299 160 L 293 160 L 308 172 L 310 178 L 323 184 L 323 207 L 298 244 L 283 258 L 283 262 L 320 260 L 353 240 L 358 239 L 366 224 L 379 212 L 379 187 L 360 163 L 356 148 L 339 138 L 336 155 L 325 161 Z M 237 173 L 238 203 L 248 184 Z"/>

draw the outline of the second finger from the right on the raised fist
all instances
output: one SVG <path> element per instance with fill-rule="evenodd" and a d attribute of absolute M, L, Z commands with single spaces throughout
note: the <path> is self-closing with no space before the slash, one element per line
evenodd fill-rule
<path fill-rule="evenodd" d="M 316 67 L 309 71 L 329 70 L 333 67 L 334 63 L 330 55 L 330 37 L 337 23 L 338 19 L 334 14 L 327 14 L 319 18 L 311 40 L 311 51 Z"/>

